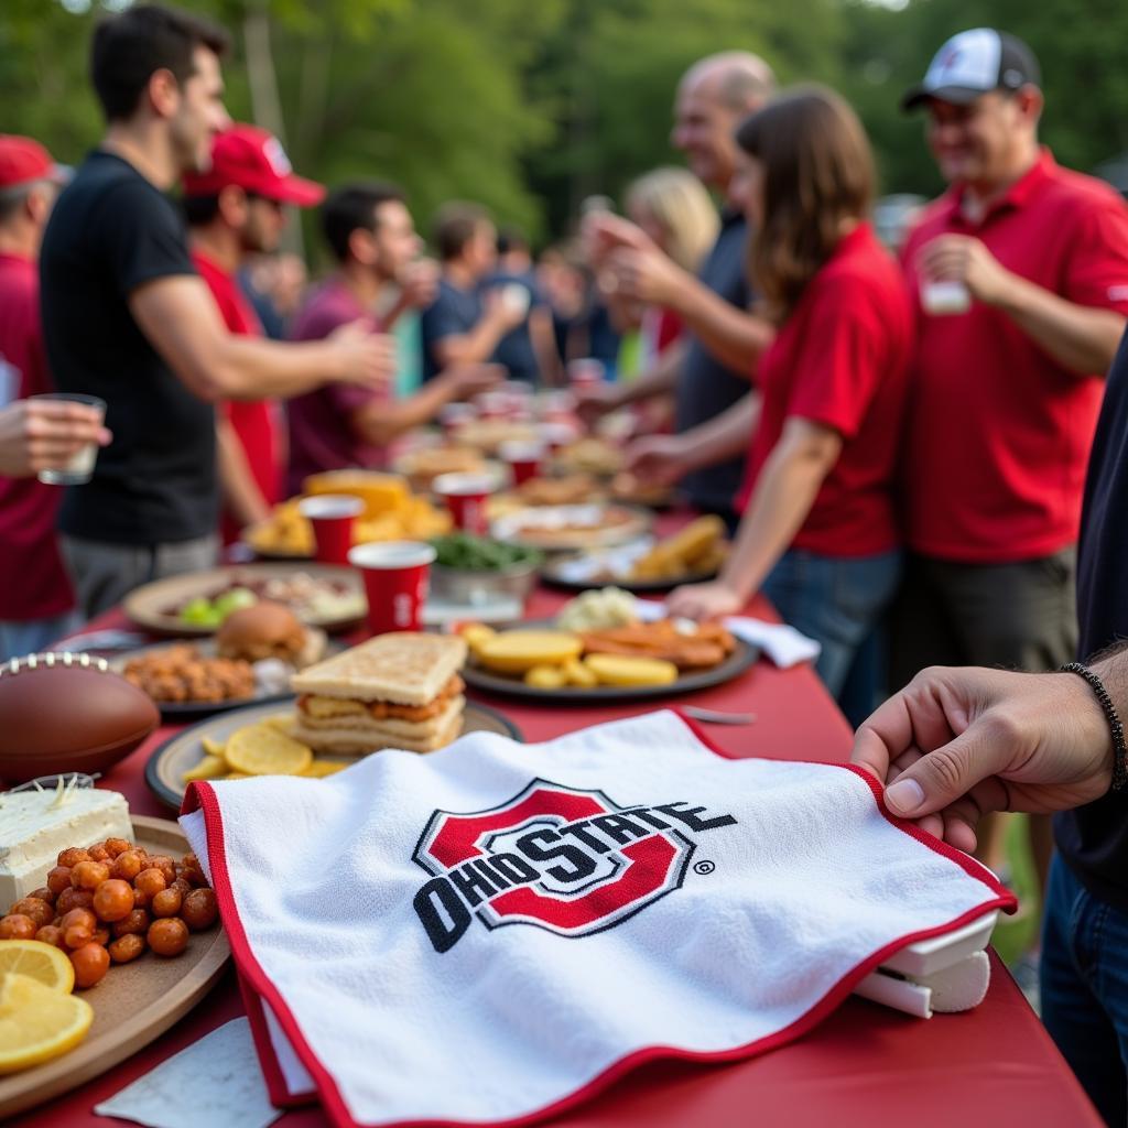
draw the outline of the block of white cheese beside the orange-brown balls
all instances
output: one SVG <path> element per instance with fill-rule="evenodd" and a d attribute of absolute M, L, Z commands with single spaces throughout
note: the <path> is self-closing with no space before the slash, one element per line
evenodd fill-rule
<path fill-rule="evenodd" d="M 72 786 L 0 794 L 0 915 L 46 883 L 61 851 L 106 838 L 133 840 L 129 804 L 116 791 Z"/>

